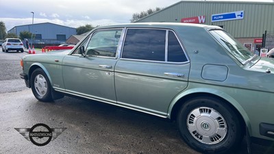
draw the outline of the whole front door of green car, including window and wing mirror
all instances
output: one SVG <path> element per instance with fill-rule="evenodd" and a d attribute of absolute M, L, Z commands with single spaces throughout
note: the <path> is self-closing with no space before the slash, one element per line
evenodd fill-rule
<path fill-rule="evenodd" d="M 85 55 L 75 50 L 62 63 L 65 90 L 82 97 L 116 103 L 114 67 L 122 29 L 103 29 L 82 43 Z"/>

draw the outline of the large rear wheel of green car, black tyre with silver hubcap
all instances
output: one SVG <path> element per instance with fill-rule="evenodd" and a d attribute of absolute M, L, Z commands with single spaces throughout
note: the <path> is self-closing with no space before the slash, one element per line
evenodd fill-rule
<path fill-rule="evenodd" d="M 234 110 L 219 99 L 187 101 L 177 116 L 184 141 L 202 153 L 228 153 L 240 145 L 243 129 Z"/>

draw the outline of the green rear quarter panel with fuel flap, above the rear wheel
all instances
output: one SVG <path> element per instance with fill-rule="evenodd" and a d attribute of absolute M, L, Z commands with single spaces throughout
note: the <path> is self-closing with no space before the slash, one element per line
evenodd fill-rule
<path fill-rule="evenodd" d="M 205 27 L 184 27 L 175 31 L 188 53 L 191 67 L 188 88 L 173 103 L 195 92 L 214 94 L 235 107 L 249 127 L 251 136 L 265 138 L 260 136 L 259 124 L 274 124 L 274 86 L 273 82 L 268 81 L 274 79 L 273 75 L 242 66 L 216 42 Z M 203 67 L 206 65 L 227 67 L 227 78 L 223 81 L 216 81 L 215 77 L 204 79 Z M 219 71 L 212 70 L 211 73 L 220 76 Z M 264 78 L 266 81 L 263 81 Z"/>

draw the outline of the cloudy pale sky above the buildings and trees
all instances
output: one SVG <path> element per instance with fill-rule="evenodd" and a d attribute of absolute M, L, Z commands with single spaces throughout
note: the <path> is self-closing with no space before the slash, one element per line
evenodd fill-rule
<path fill-rule="evenodd" d="M 50 22 L 69 27 L 129 23 L 134 13 L 165 8 L 177 2 L 179 0 L 1 0 L 0 21 L 10 30 L 17 25 L 32 24 L 31 12 L 34 12 L 34 23 Z"/>

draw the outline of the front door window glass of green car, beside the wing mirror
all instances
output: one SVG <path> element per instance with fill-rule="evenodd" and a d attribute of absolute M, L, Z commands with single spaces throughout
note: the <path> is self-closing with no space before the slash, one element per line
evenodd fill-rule
<path fill-rule="evenodd" d="M 95 31 L 86 47 L 86 55 L 115 57 L 121 32 L 122 29 Z"/>

